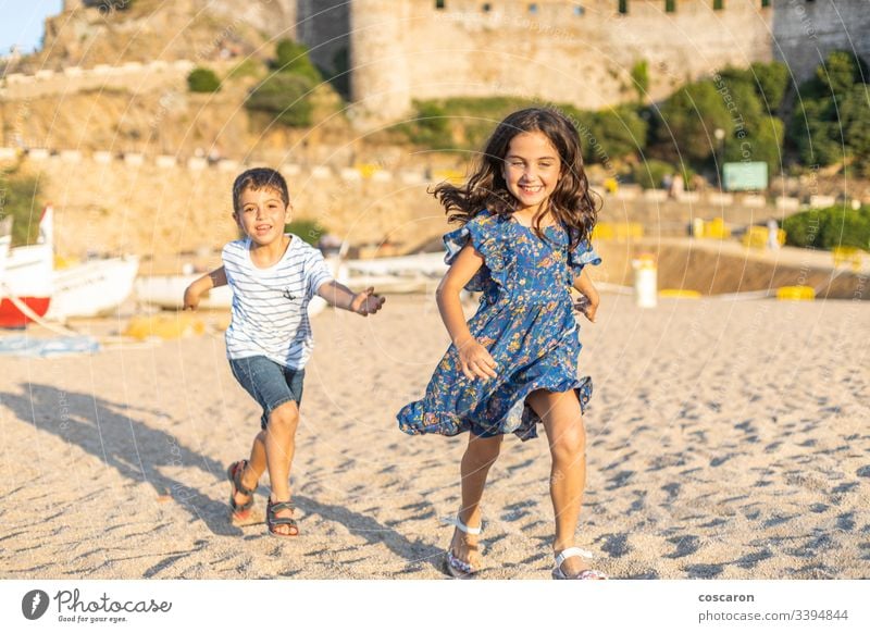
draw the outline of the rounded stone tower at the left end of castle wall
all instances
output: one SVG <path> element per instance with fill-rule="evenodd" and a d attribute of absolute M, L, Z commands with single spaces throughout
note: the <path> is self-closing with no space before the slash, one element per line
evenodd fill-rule
<path fill-rule="evenodd" d="M 350 92 L 363 127 L 397 121 L 411 102 L 405 0 L 353 0 L 350 5 Z"/>

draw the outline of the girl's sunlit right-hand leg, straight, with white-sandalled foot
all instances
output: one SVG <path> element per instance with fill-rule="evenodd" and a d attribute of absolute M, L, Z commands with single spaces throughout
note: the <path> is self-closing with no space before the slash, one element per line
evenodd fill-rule
<path fill-rule="evenodd" d="M 574 546 L 586 484 L 586 430 L 573 390 L 551 393 L 540 389 L 530 394 L 527 402 L 540 415 L 550 445 L 550 498 L 556 514 L 552 549 L 559 553 Z M 562 563 L 562 571 L 568 575 L 585 569 L 589 566 L 580 557 L 571 557 Z"/>

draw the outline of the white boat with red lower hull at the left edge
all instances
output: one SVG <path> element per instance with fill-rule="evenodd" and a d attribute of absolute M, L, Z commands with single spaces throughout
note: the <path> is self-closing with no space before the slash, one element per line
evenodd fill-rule
<path fill-rule="evenodd" d="M 54 290 L 52 241 L 53 210 L 47 206 L 39 220 L 39 239 L 30 246 L 9 250 L 0 280 L 0 327 L 23 327 L 30 318 L 22 313 L 10 299 L 27 306 L 38 316 L 48 312 Z"/>

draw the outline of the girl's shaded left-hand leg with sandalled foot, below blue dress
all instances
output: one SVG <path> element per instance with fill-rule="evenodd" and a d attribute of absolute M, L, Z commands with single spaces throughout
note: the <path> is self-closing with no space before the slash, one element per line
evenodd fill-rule
<path fill-rule="evenodd" d="M 477 437 L 469 434 L 469 445 L 462 456 L 460 472 L 462 474 L 462 507 L 459 509 L 459 520 L 469 528 L 481 526 L 481 498 L 486 485 L 486 475 L 495 463 L 501 448 L 501 435 L 495 437 Z M 477 534 L 465 534 L 458 529 L 453 531 L 450 550 L 459 560 L 464 560 L 472 567 L 481 566 L 481 555 L 477 549 Z"/>

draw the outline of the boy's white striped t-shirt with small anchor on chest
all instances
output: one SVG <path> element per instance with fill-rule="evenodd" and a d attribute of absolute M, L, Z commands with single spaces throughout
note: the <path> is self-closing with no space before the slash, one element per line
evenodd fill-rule
<path fill-rule="evenodd" d="M 233 289 L 233 320 L 226 331 L 226 356 L 265 356 L 290 369 L 302 369 L 314 339 L 308 302 L 333 280 L 321 252 L 296 235 L 274 265 L 259 269 L 250 258 L 250 238 L 231 241 L 221 257 Z"/>

